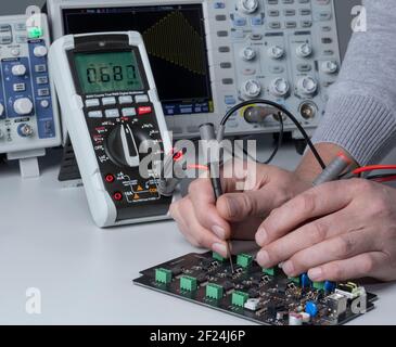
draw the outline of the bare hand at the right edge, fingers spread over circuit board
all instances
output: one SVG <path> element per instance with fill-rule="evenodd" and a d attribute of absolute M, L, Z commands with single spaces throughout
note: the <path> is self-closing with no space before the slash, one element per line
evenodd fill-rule
<path fill-rule="evenodd" d="M 260 266 L 295 277 L 396 280 L 396 189 L 363 179 L 312 188 L 263 222 Z"/>

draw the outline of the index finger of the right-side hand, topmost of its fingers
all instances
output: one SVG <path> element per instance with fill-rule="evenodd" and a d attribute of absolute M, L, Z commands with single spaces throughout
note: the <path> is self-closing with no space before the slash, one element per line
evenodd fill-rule
<path fill-rule="evenodd" d="M 307 220 L 344 208 L 352 200 L 352 189 L 345 182 L 330 182 L 310 189 L 274 209 L 258 229 L 257 242 L 265 246 Z"/>

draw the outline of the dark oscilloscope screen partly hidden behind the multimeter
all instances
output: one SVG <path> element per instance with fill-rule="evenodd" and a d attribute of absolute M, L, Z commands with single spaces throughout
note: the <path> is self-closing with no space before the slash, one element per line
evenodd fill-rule
<path fill-rule="evenodd" d="M 165 115 L 213 113 L 202 4 L 64 9 L 64 34 L 137 30 Z"/>

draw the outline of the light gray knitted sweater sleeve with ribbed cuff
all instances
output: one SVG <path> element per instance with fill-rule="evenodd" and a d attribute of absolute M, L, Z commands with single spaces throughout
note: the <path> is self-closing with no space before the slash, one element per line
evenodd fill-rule
<path fill-rule="evenodd" d="M 334 143 L 360 165 L 396 146 L 396 3 L 367 0 L 367 33 L 355 33 L 315 143 Z"/>

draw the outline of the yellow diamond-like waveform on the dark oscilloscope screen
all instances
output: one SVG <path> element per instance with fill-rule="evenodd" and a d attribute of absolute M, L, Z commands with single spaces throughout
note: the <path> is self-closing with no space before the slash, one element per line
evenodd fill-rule
<path fill-rule="evenodd" d="M 169 13 L 142 35 L 150 54 L 206 74 L 204 40 L 180 11 Z"/>

